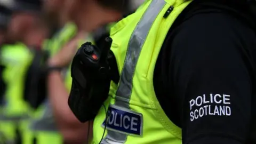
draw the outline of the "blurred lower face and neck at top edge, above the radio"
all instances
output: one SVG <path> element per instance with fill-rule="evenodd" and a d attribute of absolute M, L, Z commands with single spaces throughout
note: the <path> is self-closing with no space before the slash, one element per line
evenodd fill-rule
<path fill-rule="evenodd" d="M 123 15 L 122 12 L 111 9 L 99 3 L 98 0 L 63 0 L 63 2 L 65 3 L 62 14 L 74 21 L 78 29 L 88 32 L 118 21 Z"/>

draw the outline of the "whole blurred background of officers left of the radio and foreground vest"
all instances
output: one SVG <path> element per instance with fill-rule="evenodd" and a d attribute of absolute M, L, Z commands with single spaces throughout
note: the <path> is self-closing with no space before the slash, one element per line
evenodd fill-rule
<path fill-rule="evenodd" d="M 143 3 L 120 2 L 0 0 L 0 144 L 86 143 L 90 127 L 67 103 L 70 65 L 81 44 L 101 46 Z"/>

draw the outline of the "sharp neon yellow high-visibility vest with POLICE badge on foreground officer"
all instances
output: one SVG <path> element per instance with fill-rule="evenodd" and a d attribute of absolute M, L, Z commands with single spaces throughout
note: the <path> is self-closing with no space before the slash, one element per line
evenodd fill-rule
<path fill-rule="evenodd" d="M 191 1 L 150 0 L 110 30 L 121 79 L 93 122 L 92 143 L 182 143 L 154 92 L 155 63 L 164 39 Z M 106 130 L 105 130 L 106 128 Z"/>

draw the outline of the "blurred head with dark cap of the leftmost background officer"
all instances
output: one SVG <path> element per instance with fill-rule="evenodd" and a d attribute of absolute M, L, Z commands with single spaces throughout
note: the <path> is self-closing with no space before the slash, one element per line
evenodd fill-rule
<path fill-rule="evenodd" d="M 41 1 L 7 1 L 13 10 L 9 25 L 9 38 L 28 47 L 41 47 L 48 35 L 45 22 L 41 19 Z"/>

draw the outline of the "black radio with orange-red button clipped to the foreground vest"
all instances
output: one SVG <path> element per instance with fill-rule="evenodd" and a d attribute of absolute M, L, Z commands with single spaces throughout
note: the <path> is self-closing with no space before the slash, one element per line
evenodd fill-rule
<path fill-rule="evenodd" d="M 81 122 L 92 120 L 98 114 L 108 97 L 111 79 L 118 79 L 111 76 L 110 62 L 113 60 L 109 59 L 114 58 L 110 51 L 111 44 L 110 37 L 105 39 L 101 49 L 87 42 L 79 48 L 73 59 L 73 81 L 68 105 Z"/>

